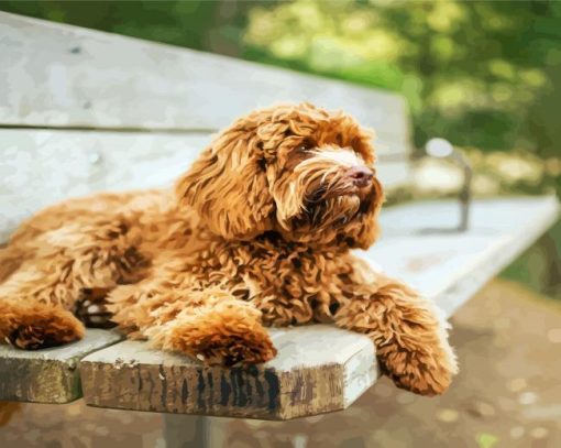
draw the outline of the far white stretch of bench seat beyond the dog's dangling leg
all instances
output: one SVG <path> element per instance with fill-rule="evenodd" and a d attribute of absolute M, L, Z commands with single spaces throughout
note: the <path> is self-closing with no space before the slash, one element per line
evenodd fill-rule
<path fill-rule="evenodd" d="M 383 209 L 381 240 L 358 254 L 451 316 L 557 220 L 559 203 L 553 196 L 477 199 L 471 214 L 466 232 L 450 232 L 460 220 L 457 201 Z"/>

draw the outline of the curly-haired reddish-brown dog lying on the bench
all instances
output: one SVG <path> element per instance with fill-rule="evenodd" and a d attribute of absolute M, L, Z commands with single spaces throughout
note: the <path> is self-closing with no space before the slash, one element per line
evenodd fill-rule
<path fill-rule="evenodd" d="M 24 222 L 0 252 L 0 337 L 22 349 L 79 339 L 70 310 L 102 301 L 129 337 L 232 365 L 276 354 L 264 325 L 333 323 L 372 338 L 398 386 L 442 393 L 457 372 L 447 324 L 351 253 L 377 234 L 373 163 L 348 114 L 252 112 L 175 192 L 98 194 Z"/>

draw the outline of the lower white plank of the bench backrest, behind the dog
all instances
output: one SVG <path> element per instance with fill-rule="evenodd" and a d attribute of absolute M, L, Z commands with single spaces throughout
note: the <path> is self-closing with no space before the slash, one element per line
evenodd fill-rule
<path fill-rule="evenodd" d="M 0 129 L 0 242 L 23 219 L 65 198 L 168 186 L 210 140 L 196 132 Z M 378 172 L 392 186 L 406 170 L 381 164 Z"/>

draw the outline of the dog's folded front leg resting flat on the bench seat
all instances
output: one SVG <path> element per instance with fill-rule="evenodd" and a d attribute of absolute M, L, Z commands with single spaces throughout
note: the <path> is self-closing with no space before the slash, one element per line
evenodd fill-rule
<path fill-rule="evenodd" d="M 184 284 L 197 278 L 184 277 Z M 265 362 L 276 354 L 261 323 L 261 312 L 231 292 L 210 287 L 172 286 L 145 280 L 113 289 L 109 296 L 113 320 L 133 338 L 177 351 L 209 364 Z"/>

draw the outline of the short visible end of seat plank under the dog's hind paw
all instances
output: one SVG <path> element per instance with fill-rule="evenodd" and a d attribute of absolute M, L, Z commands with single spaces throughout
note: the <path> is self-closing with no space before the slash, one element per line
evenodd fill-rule
<path fill-rule="evenodd" d="M 112 331 L 89 329 L 82 340 L 53 349 L 23 351 L 0 345 L 0 401 L 68 403 L 79 398 L 79 360 L 120 339 Z"/>

